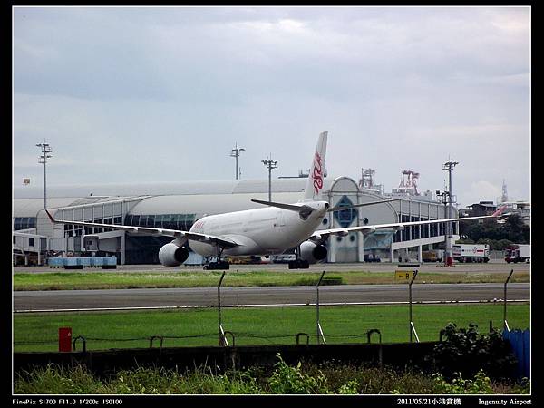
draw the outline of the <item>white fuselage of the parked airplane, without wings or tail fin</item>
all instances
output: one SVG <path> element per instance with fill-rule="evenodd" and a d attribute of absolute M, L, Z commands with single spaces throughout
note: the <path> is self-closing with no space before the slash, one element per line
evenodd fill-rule
<path fill-rule="evenodd" d="M 301 219 L 298 212 L 287 209 L 247 209 L 199 219 L 190 232 L 230 238 L 240 244 L 226 248 L 223 255 L 281 254 L 310 237 L 325 217 L 328 207 L 325 201 L 304 204 L 316 209 L 306 220 Z M 215 245 L 189 239 L 189 246 L 203 257 L 218 254 Z"/>

